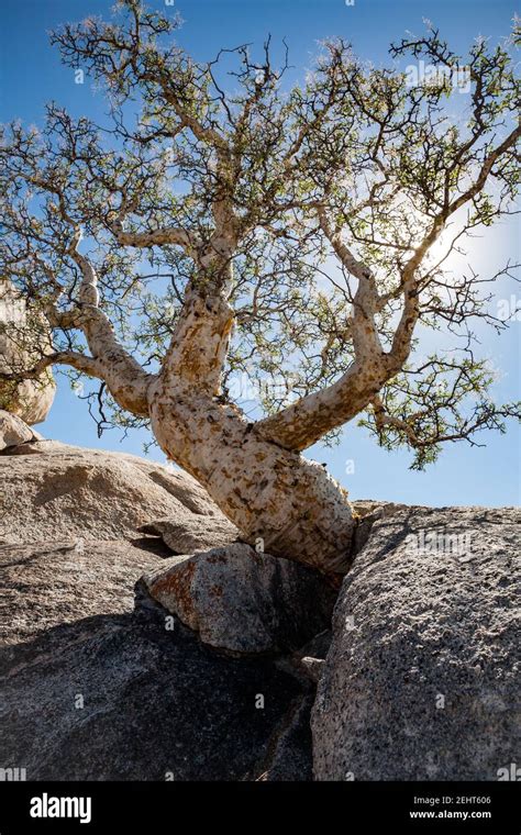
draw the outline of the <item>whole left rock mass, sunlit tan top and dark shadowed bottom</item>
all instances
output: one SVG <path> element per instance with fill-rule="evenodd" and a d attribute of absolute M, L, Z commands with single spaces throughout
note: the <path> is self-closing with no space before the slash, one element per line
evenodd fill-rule
<path fill-rule="evenodd" d="M 269 658 L 206 648 L 148 595 L 135 604 L 166 553 L 135 528 L 165 513 L 215 521 L 204 491 L 132 456 L 22 446 L 0 458 L 0 768 L 30 781 L 310 779 L 309 688 Z"/>

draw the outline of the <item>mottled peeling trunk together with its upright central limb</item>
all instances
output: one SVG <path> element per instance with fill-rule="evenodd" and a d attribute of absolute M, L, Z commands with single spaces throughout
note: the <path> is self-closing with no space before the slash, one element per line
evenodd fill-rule
<path fill-rule="evenodd" d="M 325 574 L 345 574 L 354 528 L 346 492 L 323 467 L 259 437 L 236 409 L 214 400 L 234 321 L 224 298 L 228 243 L 224 236 L 218 249 L 213 242 L 207 255 L 219 292 L 188 292 L 162 374 L 148 387 L 154 435 L 246 542 Z M 201 286 L 208 286 L 203 278 Z"/>

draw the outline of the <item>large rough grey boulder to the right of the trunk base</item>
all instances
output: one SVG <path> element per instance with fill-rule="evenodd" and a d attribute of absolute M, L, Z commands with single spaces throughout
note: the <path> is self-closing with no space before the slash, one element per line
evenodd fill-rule
<path fill-rule="evenodd" d="M 497 780 L 519 762 L 516 509 L 399 510 L 344 580 L 313 709 L 319 780 Z"/>

